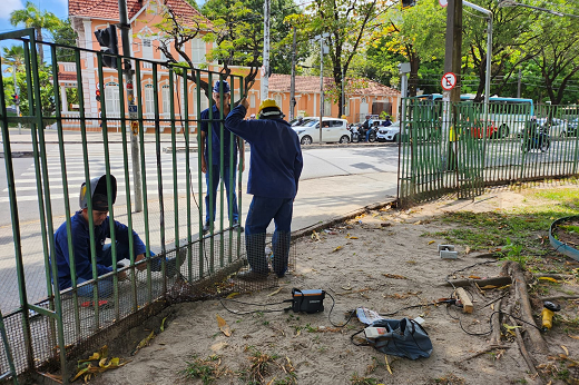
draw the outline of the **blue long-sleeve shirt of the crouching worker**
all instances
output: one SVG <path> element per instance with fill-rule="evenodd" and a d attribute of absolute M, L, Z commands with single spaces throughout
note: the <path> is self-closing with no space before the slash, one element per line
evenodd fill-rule
<path fill-rule="evenodd" d="M 109 217 L 107 217 L 100 226 L 95 226 L 95 247 L 97 253 L 97 274 L 104 275 L 112 272 L 110 263 L 102 260 L 102 247 L 105 240 L 110 238 Z M 90 261 L 90 235 L 88 223 L 82 217 L 82 211 L 77 211 L 70 218 L 70 228 L 72 233 L 72 249 L 75 253 L 75 267 L 77 277 L 84 279 L 92 279 L 92 264 Z M 129 229 L 127 226 L 115 220 L 115 237 L 118 244 L 128 245 Z M 135 230 L 133 231 L 133 245 L 135 256 L 146 251 L 145 244 Z M 68 253 L 68 233 L 67 224 L 63 223 L 55 233 L 55 250 L 58 267 L 58 287 L 66 289 L 72 286 L 70 277 L 70 256 Z"/>

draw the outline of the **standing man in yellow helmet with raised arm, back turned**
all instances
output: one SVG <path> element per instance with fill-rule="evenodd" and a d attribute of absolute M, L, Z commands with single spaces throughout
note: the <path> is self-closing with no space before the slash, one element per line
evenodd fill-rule
<path fill-rule="evenodd" d="M 245 221 L 245 247 L 251 270 L 237 274 L 244 280 L 267 279 L 265 236 L 272 219 L 272 267 L 277 277 L 287 272 L 292 214 L 302 174 L 302 149 L 297 134 L 283 120 L 284 115 L 273 99 L 259 106 L 258 120 L 244 120 L 249 103 L 242 99 L 225 119 L 225 127 L 247 140 L 252 147 L 247 194 L 254 197 Z"/>

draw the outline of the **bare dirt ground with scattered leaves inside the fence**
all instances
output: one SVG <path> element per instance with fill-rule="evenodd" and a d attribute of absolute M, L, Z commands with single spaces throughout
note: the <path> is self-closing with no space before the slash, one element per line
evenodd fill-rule
<path fill-rule="evenodd" d="M 569 188 L 546 186 L 539 188 Z M 576 188 L 576 186 L 575 186 Z M 429 358 L 411 361 L 387 356 L 371 346 L 355 346 L 351 335 L 364 325 L 355 317 L 345 326 L 346 314 L 357 307 L 387 314 L 411 305 L 428 304 L 452 296 L 445 278 L 498 276 L 502 261 L 480 258 L 484 250 L 457 247 L 458 259 L 441 259 L 438 245 L 442 237 L 433 236 L 449 226 L 432 220 L 444 211 L 509 211 L 514 208 L 543 203 L 531 190 L 501 189 L 473 200 L 438 200 L 410 210 L 387 207 L 347 220 L 318 234 L 320 239 L 305 237 L 297 243 L 295 272 L 279 280 L 279 290 L 271 288 L 236 296 L 247 304 L 219 300 L 174 305 L 165 330 L 135 356 L 122 355 L 130 363 L 116 371 L 100 374 L 92 384 L 202 384 L 188 379 L 181 371 L 187 363 L 205 362 L 218 367 L 213 384 L 568 384 L 579 377 L 579 368 L 569 361 L 558 361 L 565 354 L 579 358 L 579 332 L 556 324 L 542 334 L 549 346 L 548 355 L 539 357 L 542 378 L 529 374 L 514 338 L 501 349 L 489 347 L 490 303 L 509 289 L 478 290 L 468 287 L 474 312 L 464 314 L 454 306 L 424 306 L 402 310 L 391 317 L 424 318 L 433 352 Z M 538 234 L 546 236 L 548 229 Z M 500 245 L 497 245 L 500 246 Z M 569 264 L 575 261 L 561 257 Z M 481 261 L 461 273 L 463 269 Z M 540 282 L 540 285 L 549 285 Z M 577 295 L 576 279 L 551 285 L 549 295 Z M 327 293 L 325 310 L 317 314 L 272 312 L 283 305 L 258 306 L 291 298 L 292 288 L 323 289 Z M 333 297 L 331 298 L 330 295 Z M 334 300 L 335 304 L 334 304 Z M 578 319 L 577 300 L 560 300 L 561 317 Z M 487 305 L 487 306 L 484 306 Z M 167 312 L 165 315 L 167 315 Z M 537 316 L 540 308 L 533 308 Z M 165 316 L 164 315 L 164 316 Z M 230 329 L 230 336 L 219 330 L 220 316 Z M 160 323 L 157 317 L 157 323 Z M 537 318 L 538 319 L 538 318 Z M 520 327 L 524 335 L 526 327 Z M 469 332 L 470 334 L 465 333 Z M 145 335 L 149 332 L 146 327 Z M 481 335 L 471 335 L 471 334 Z M 135 335 L 133 346 L 140 334 Z M 115 352 L 112 352 L 115 353 Z M 533 352 L 530 352 L 533 354 Z M 214 356 L 212 361 L 209 357 Z M 196 361 L 197 359 L 197 361 Z M 252 369 L 253 365 L 253 369 Z M 263 368 L 257 371 L 257 368 Z M 265 368 L 264 368 L 265 367 Z M 565 371 L 562 369 L 565 368 Z M 258 373 L 257 373 L 258 372 Z M 255 375 L 252 379 L 252 374 Z M 259 377 L 263 375 L 263 377 Z M 356 377 L 357 376 L 357 377 Z M 355 382 L 356 379 L 359 382 Z M 579 382 L 578 382 L 579 383 Z"/>

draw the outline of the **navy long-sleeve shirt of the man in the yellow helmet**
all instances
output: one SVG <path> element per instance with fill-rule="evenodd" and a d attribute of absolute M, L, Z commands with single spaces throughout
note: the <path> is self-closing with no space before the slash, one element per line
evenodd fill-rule
<path fill-rule="evenodd" d="M 246 109 L 235 107 L 225 127 L 252 147 L 247 194 L 266 198 L 295 198 L 302 168 L 297 134 L 283 119 L 244 120 Z"/>

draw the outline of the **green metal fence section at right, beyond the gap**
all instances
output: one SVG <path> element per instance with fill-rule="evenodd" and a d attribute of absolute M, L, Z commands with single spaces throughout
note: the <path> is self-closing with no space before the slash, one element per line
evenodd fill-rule
<path fill-rule="evenodd" d="M 408 98 L 402 101 L 399 198 L 410 206 L 484 187 L 578 175 L 578 109 Z"/>

